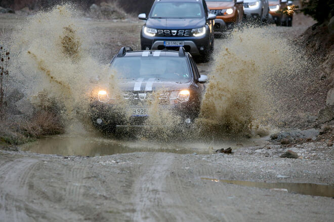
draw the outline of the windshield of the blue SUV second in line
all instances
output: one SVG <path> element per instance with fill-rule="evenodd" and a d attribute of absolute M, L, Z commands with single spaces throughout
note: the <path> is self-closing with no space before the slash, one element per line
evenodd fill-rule
<path fill-rule="evenodd" d="M 151 18 L 201 18 L 202 9 L 199 3 L 157 3 Z"/>

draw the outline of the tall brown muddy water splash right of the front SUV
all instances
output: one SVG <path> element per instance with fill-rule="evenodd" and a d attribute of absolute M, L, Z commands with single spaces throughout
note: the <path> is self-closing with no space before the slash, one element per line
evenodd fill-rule
<path fill-rule="evenodd" d="M 197 120 L 200 129 L 211 135 L 251 136 L 255 125 L 268 124 L 280 106 L 273 102 L 273 89 L 312 66 L 299 50 L 271 28 L 234 30 L 215 54 L 214 75 Z"/>

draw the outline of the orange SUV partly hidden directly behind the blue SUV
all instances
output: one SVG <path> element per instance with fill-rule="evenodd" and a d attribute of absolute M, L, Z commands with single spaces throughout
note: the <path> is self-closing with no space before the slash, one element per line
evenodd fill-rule
<path fill-rule="evenodd" d="M 215 31 L 225 31 L 242 21 L 243 0 L 209 0 L 205 2 L 210 13 L 216 15 Z"/>

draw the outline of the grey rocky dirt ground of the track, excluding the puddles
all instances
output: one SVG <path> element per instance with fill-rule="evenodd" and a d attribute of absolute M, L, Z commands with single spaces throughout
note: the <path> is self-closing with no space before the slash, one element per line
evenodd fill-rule
<path fill-rule="evenodd" d="M 2 37 L 6 38 L 4 32 L 25 18 L 18 14 L 0 15 L 1 28 L 5 30 Z M 82 23 L 90 25 L 100 36 L 97 46 L 91 49 L 100 57 L 99 61 L 109 62 L 122 45 L 139 48 L 142 23 L 137 20 L 87 18 Z M 300 15 L 296 24 L 293 28 L 276 30 L 293 39 L 314 21 L 303 20 Z M 200 64 L 199 69 L 202 73 L 210 72 L 212 63 Z M 239 142 L 240 148 L 233 148 L 231 154 L 135 152 L 85 157 L 36 154 L 2 145 L 0 218 L 2 221 L 331 221 L 334 218 L 331 197 L 219 181 L 334 186 L 334 122 L 319 123 L 317 127 L 283 130 L 263 145 Z M 280 157 L 286 152 L 297 158 Z"/>

